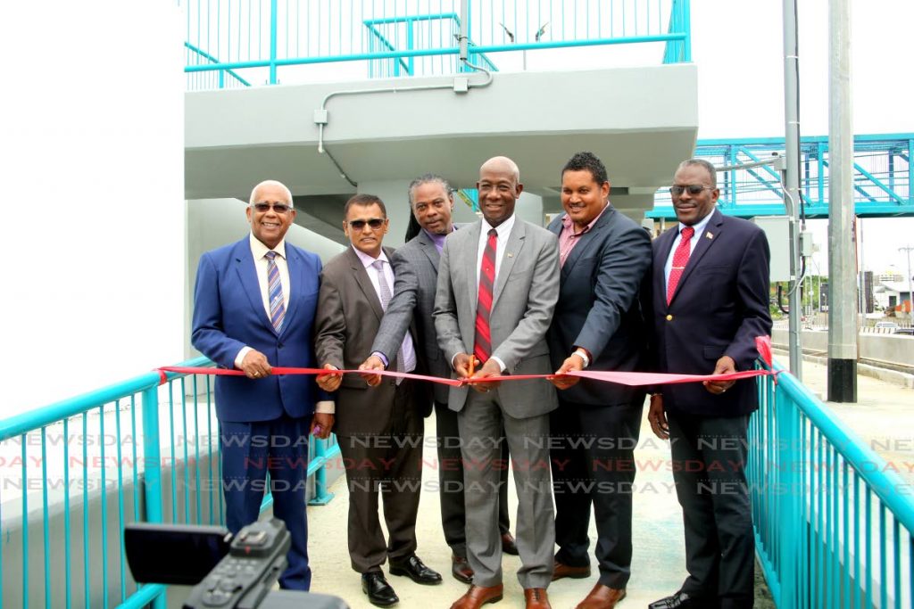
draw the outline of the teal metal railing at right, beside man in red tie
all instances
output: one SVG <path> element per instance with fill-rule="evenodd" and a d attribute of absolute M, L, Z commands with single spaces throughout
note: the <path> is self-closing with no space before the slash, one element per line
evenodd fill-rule
<path fill-rule="evenodd" d="M 757 551 L 776 604 L 914 606 L 914 485 L 776 370 L 777 383 L 760 382 L 747 472 Z"/>

